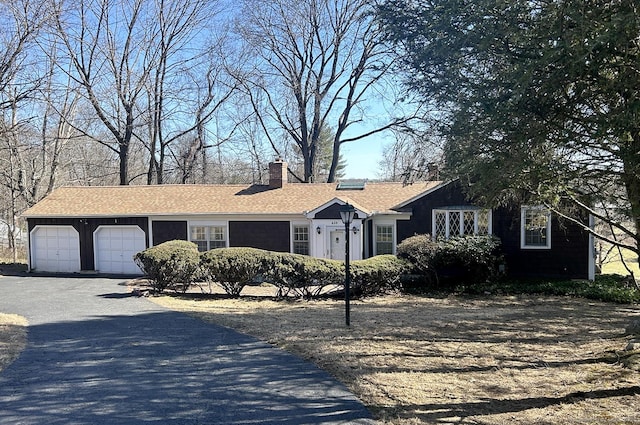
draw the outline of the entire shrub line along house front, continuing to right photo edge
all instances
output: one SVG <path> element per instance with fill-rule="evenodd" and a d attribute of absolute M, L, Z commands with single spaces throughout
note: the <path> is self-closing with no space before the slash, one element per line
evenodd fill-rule
<path fill-rule="evenodd" d="M 352 294 L 370 296 L 391 290 L 404 292 L 536 293 L 572 295 L 602 301 L 638 302 L 640 292 L 621 276 L 598 276 L 584 281 L 497 281 L 502 258 L 491 237 L 432 241 L 416 236 L 398 246 L 398 254 L 381 255 L 351 263 Z M 209 281 L 238 296 L 246 285 L 270 282 L 280 296 L 314 298 L 332 289 L 342 291 L 341 261 L 263 251 L 223 248 L 200 254 L 191 242 L 171 241 L 135 256 L 154 290 L 185 291 L 194 282 Z M 456 270 L 455 277 L 447 273 Z M 439 284 L 439 285 L 438 285 Z M 446 285 L 446 286 L 445 286 Z"/>

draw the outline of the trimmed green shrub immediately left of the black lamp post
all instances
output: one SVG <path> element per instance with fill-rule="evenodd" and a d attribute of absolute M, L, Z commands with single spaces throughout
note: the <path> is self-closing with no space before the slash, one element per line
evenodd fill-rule
<path fill-rule="evenodd" d="M 344 281 L 344 265 L 336 260 L 272 252 L 265 277 L 278 288 L 278 297 L 293 294 L 311 299 Z"/>

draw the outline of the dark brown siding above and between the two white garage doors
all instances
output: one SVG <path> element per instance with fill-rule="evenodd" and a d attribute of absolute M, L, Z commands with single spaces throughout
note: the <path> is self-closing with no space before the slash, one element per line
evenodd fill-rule
<path fill-rule="evenodd" d="M 93 253 L 93 233 L 99 226 L 137 225 L 149 240 L 148 220 L 146 217 L 112 218 L 30 218 L 27 220 L 29 235 L 36 226 L 73 226 L 80 238 L 80 269 L 95 270 Z M 148 244 L 148 242 L 147 242 Z"/>

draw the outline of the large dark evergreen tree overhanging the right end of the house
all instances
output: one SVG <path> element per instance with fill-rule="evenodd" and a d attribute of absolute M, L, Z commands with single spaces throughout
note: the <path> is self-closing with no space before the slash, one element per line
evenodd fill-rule
<path fill-rule="evenodd" d="M 615 231 L 596 236 L 638 254 L 639 7 L 405 0 L 379 17 L 407 84 L 438 107 L 448 171 L 470 195 L 524 197 L 570 219 L 586 210 Z"/>

